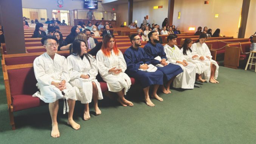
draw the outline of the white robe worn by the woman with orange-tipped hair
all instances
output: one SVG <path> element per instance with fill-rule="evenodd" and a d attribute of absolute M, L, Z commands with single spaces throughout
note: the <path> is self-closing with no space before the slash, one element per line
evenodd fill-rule
<path fill-rule="evenodd" d="M 99 74 L 102 79 L 107 82 L 107 87 L 111 92 L 119 92 L 124 88 L 124 94 L 130 88 L 131 80 L 130 77 L 124 73 L 126 70 L 126 62 L 124 56 L 120 50 L 118 55 L 115 55 L 114 51 L 111 51 L 109 57 L 103 54 L 102 50 L 99 50 L 96 55 L 97 66 Z M 119 74 L 112 74 L 109 70 L 113 67 L 118 67 L 122 69 Z"/>

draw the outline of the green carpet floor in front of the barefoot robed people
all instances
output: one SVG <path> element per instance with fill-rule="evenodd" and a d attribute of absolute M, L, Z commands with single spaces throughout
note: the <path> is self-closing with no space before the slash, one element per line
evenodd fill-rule
<path fill-rule="evenodd" d="M 2 71 L 2 69 L 0 70 Z M 0 143 L 92 143 L 92 144 L 255 144 L 256 73 L 220 67 L 219 84 L 203 83 L 193 90 L 172 89 L 146 106 L 143 91 L 129 90 L 133 107 L 122 107 L 104 97 L 102 114 L 82 120 L 84 106 L 77 101 L 74 119 L 81 129 L 67 126 L 67 115 L 59 108 L 61 137 L 51 138 L 48 106 L 14 113 L 16 130 L 11 130 L 3 77 L 0 77 Z M 92 106 L 90 106 L 92 107 Z M 91 111 L 94 111 L 93 107 Z"/>

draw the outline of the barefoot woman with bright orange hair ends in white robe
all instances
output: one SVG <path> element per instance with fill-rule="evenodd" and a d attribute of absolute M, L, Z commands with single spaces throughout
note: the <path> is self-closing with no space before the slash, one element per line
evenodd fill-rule
<path fill-rule="evenodd" d="M 99 74 L 107 82 L 110 92 L 118 95 L 118 102 L 122 106 L 133 106 L 124 95 L 130 88 L 131 80 L 125 72 L 127 66 L 122 52 L 116 47 L 115 37 L 106 34 L 102 41 L 101 50 L 96 55 Z"/>

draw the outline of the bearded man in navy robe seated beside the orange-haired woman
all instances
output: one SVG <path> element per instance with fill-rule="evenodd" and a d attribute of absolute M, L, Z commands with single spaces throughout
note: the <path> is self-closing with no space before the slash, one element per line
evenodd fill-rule
<path fill-rule="evenodd" d="M 163 101 L 163 99 L 157 95 L 159 85 L 163 84 L 163 72 L 158 69 L 155 72 L 139 70 L 148 69 L 148 65 L 151 64 L 151 61 L 145 51 L 139 47 L 141 46 L 140 36 L 138 34 L 133 34 L 131 35 L 130 40 L 132 46 L 124 52 L 124 60 L 127 65 L 126 74 L 139 81 L 144 91 L 146 104 L 148 106 L 155 106 L 149 98 L 149 86 L 154 85 L 151 97 Z"/>

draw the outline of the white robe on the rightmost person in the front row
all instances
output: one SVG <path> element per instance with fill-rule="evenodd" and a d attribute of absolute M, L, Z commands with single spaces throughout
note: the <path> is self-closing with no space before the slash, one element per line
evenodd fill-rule
<path fill-rule="evenodd" d="M 219 74 L 219 65 L 217 64 L 216 61 L 212 60 L 211 58 L 213 56 L 211 56 L 211 52 L 208 48 L 208 46 L 206 45 L 206 43 L 201 44 L 200 42 L 198 43 L 193 43 L 191 46 L 192 52 L 196 52 L 195 54 L 198 54 L 199 57 L 203 56 L 205 58 L 205 60 L 203 61 L 204 63 L 206 63 L 206 65 L 208 65 L 207 63 L 211 62 L 216 66 L 216 70 L 214 72 L 214 78 L 217 79 L 218 74 Z M 210 57 L 210 59 L 206 58 L 206 56 Z M 207 80 L 207 82 L 209 81 L 210 75 L 211 75 L 211 71 L 208 73 L 203 73 L 202 77 L 204 79 Z"/>

